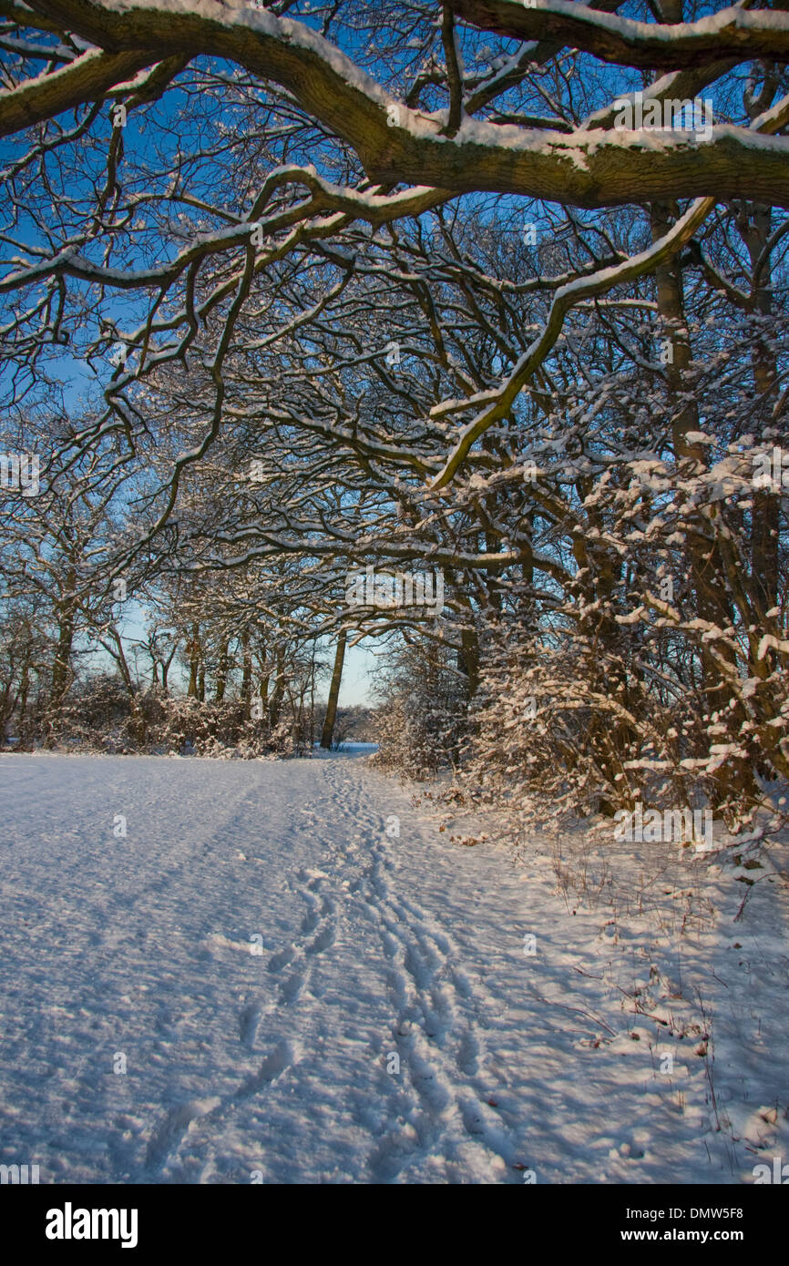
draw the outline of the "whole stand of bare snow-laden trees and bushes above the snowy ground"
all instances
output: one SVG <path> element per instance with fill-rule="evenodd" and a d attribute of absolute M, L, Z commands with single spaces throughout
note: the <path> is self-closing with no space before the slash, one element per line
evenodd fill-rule
<path fill-rule="evenodd" d="M 6 733 L 67 742 L 99 663 L 134 749 L 328 746 L 367 637 L 389 768 L 455 771 L 524 824 L 781 817 L 785 19 L 748 9 L 735 49 L 640 4 L 666 38 L 608 14 L 603 48 L 560 5 L 534 43 L 546 4 L 493 29 L 485 5 L 287 4 L 285 85 L 276 57 L 166 58 L 113 89 L 133 127 L 91 100 L 66 128 L 47 97 L 19 133 Z M 9 54 L 25 100 L 68 30 Z M 656 109 L 685 97 L 703 135 Z"/>

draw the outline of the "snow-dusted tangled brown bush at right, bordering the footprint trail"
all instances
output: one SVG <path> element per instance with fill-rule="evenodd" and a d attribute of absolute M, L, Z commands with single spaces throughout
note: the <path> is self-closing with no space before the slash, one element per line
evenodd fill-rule
<path fill-rule="evenodd" d="M 607 648 L 579 634 L 498 629 L 469 713 L 465 789 L 505 810 L 517 834 L 636 805 L 710 806 L 733 832 L 750 827 L 760 806 L 773 813 L 738 694 L 710 714 L 690 682 L 657 689 L 659 671 L 628 627 Z M 775 777 L 769 765 L 761 772 Z"/>

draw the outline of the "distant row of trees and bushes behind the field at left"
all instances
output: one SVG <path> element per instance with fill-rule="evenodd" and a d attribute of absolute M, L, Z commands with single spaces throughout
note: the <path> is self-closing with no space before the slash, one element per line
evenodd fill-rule
<path fill-rule="evenodd" d="M 236 633 L 227 617 L 206 617 L 204 590 L 179 594 L 170 624 L 149 592 L 129 630 L 113 557 L 86 567 L 56 541 L 4 552 L 0 746 L 255 757 L 366 741 L 370 710 L 338 706 L 336 655 L 314 638 L 282 636 L 272 620 Z"/>

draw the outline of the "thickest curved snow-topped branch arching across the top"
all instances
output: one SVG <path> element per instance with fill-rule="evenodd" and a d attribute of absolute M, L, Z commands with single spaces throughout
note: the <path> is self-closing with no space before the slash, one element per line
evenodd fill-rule
<path fill-rule="evenodd" d="M 509 192 L 585 208 L 713 195 L 789 206 L 786 141 L 755 137 L 747 128 L 717 127 L 709 142 L 694 144 L 683 132 L 595 129 L 567 135 L 465 118 L 457 135 L 450 138 L 442 134 L 443 118 L 409 110 L 314 30 L 267 10 L 217 3 L 215 16 L 211 11 L 206 18 L 190 0 L 129 0 L 125 10 L 89 0 L 30 4 L 115 52 L 134 51 L 143 60 L 151 60 L 151 53 L 139 49 L 151 48 L 160 60 L 176 54 L 227 57 L 286 87 L 313 118 L 356 151 L 376 184 L 433 185 L 457 194 Z M 562 22 L 621 22 L 596 10 L 584 9 L 581 16 L 579 9 L 557 0 L 519 13 L 531 23 L 552 11 Z M 735 24 L 737 39 L 745 38 L 742 32 L 757 33 L 757 27 L 741 25 L 742 19 L 755 16 L 770 37 L 769 56 L 780 58 L 781 41 L 789 51 L 789 15 L 748 15 L 740 9 L 726 13 L 736 15 L 727 22 Z M 695 24 L 710 24 L 716 62 L 731 53 L 722 35 L 728 27 L 721 16 Z M 647 25 L 647 30 L 652 28 Z M 684 28 L 659 30 L 661 35 L 653 38 L 660 43 L 662 33 Z M 68 67 L 56 75 L 72 72 Z"/>

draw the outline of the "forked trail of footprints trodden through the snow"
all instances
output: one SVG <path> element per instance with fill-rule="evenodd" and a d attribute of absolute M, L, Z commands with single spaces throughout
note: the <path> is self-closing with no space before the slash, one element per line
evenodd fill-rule
<path fill-rule="evenodd" d="M 266 971 L 277 980 L 276 998 L 263 1001 L 247 995 L 238 1012 L 238 1041 L 252 1052 L 266 1015 L 293 1006 L 309 986 L 320 955 L 337 938 L 338 918 L 351 918 L 363 908 L 377 929 L 388 994 L 394 1019 L 391 1047 L 400 1056 L 403 1081 L 388 1077 L 389 1125 L 371 1146 L 367 1167 L 374 1181 L 393 1181 L 413 1162 L 428 1156 L 446 1156 L 451 1162 L 458 1146 L 485 1152 L 489 1163 L 510 1166 L 517 1153 L 507 1127 L 484 1099 L 477 1084 L 484 1042 L 475 1031 L 475 989 L 467 974 L 455 966 L 461 956 L 446 927 L 413 899 L 395 894 L 395 844 L 384 841 L 385 815 L 365 800 L 363 775 L 348 777 L 337 765 L 322 765 L 325 812 L 301 809 L 308 830 L 318 838 L 327 818 L 325 852 L 319 866 L 293 867 L 287 884 L 306 909 L 299 933 L 275 951 Z M 342 830 L 336 819 L 348 824 L 346 842 L 334 842 Z M 332 884 L 329 895 L 325 887 Z M 177 1156 L 187 1136 L 215 1128 L 243 1105 L 244 1100 L 279 1084 L 298 1062 L 294 1044 L 281 1041 L 265 1056 L 257 1070 L 247 1071 L 237 1087 L 224 1096 L 191 1099 L 172 1108 L 152 1132 L 143 1172 L 149 1176 Z M 405 1118 L 407 1132 L 398 1122 Z M 144 1180 L 144 1179 L 143 1179 Z M 517 1176 L 513 1181 L 518 1181 Z"/>

